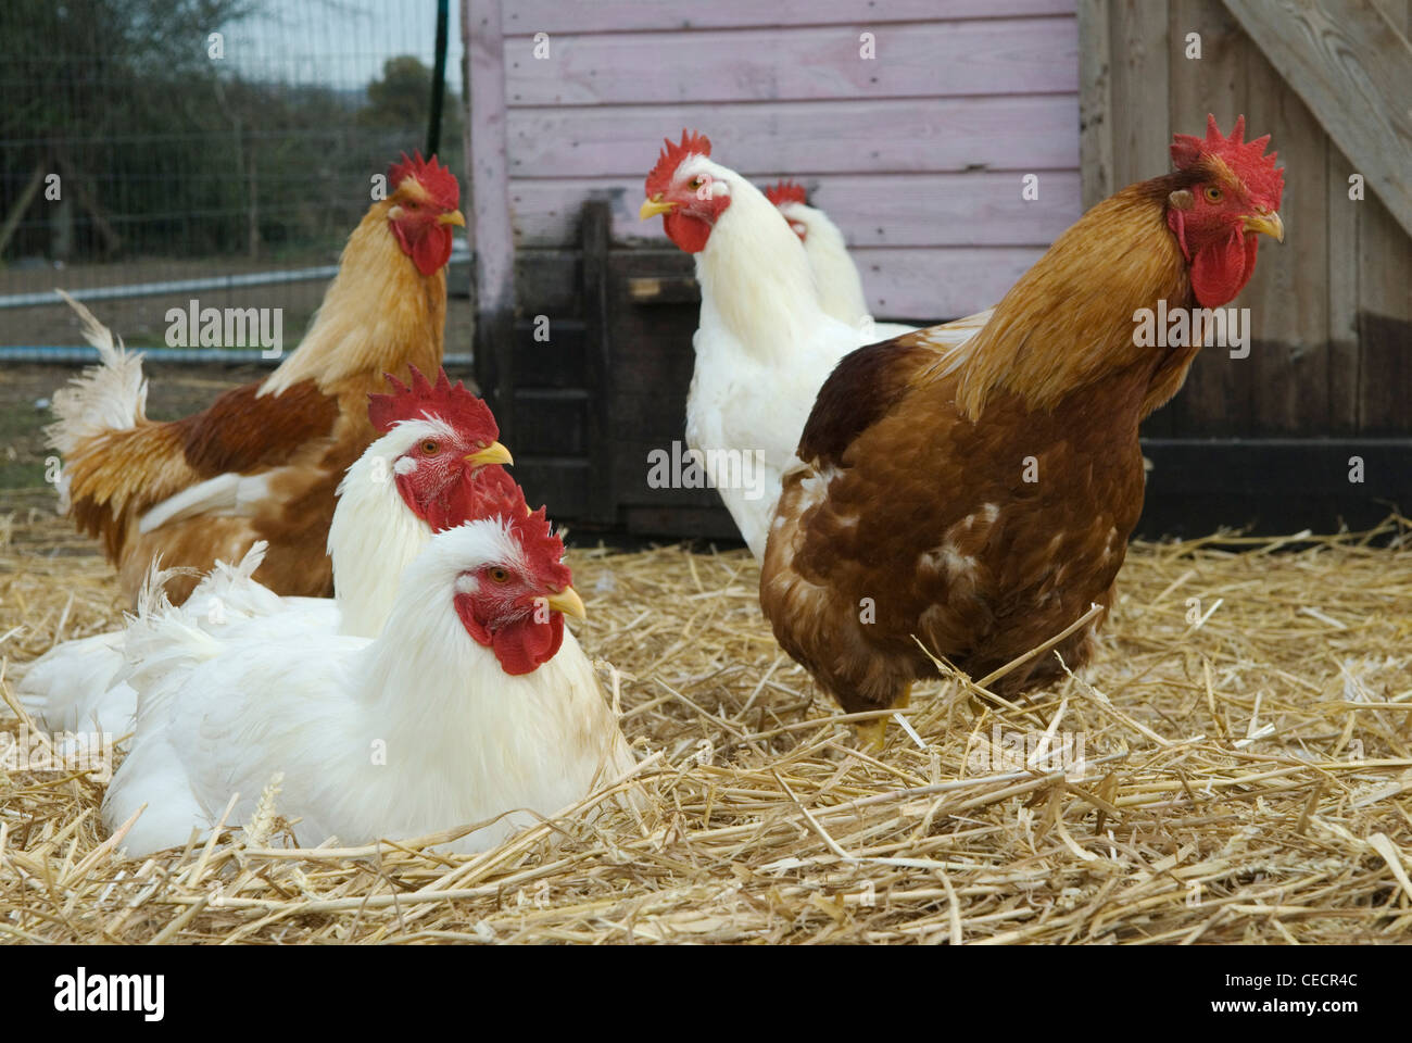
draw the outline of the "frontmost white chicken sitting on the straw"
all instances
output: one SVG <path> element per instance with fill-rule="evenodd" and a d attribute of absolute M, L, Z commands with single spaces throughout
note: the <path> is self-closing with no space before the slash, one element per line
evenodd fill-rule
<path fill-rule="evenodd" d="M 633 753 L 587 659 L 561 646 L 561 613 L 583 615 L 562 557 L 544 509 L 442 531 L 374 639 L 219 640 L 144 605 L 126 639 L 137 733 L 104 823 L 145 804 L 124 844 L 148 854 L 209 831 L 236 793 L 227 823 L 246 823 L 278 780 L 304 845 L 480 824 L 448 849 L 483 851 L 618 779 Z"/>

